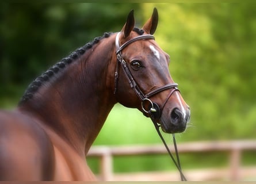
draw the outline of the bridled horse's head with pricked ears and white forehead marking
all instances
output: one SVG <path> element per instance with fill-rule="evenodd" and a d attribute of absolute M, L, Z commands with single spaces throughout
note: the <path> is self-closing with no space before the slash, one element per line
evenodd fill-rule
<path fill-rule="evenodd" d="M 142 29 L 134 28 L 133 11 L 116 36 L 115 95 L 121 104 L 137 108 L 166 133 L 185 131 L 189 106 L 169 72 L 170 58 L 154 40 L 158 12 Z"/>

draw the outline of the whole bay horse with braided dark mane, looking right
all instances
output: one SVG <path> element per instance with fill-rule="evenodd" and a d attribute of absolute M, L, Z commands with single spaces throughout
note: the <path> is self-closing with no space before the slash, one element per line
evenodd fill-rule
<path fill-rule="evenodd" d="M 94 181 L 86 154 L 114 104 L 137 108 L 164 132 L 183 132 L 190 110 L 154 40 L 158 12 L 142 29 L 133 10 L 33 81 L 13 111 L 0 112 L 1 181 Z"/>

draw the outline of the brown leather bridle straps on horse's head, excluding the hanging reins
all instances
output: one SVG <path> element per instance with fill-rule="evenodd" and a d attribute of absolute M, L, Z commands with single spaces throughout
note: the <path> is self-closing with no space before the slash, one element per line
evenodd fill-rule
<path fill-rule="evenodd" d="M 116 36 L 116 55 L 117 55 L 117 64 L 116 64 L 116 72 L 114 73 L 114 94 L 116 94 L 117 92 L 117 80 L 119 77 L 118 71 L 119 71 L 119 63 L 121 65 L 121 67 L 124 70 L 124 74 L 128 79 L 129 85 L 132 87 L 133 91 L 135 91 L 135 94 L 137 95 L 137 97 L 140 98 L 140 100 L 142 101 L 142 109 L 144 111 L 144 115 L 146 114 L 150 114 L 150 117 L 153 118 L 154 120 L 158 120 L 161 117 L 161 110 L 165 107 L 168 99 L 171 97 L 171 95 L 174 93 L 174 91 L 179 91 L 178 90 L 178 84 L 177 83 L 169 83 L 167 85 L 164 85 L 162 87 L 158 87 L 155 90 L 150 91 L 147 94 L 144 94 L 142 92 L 142 90 L 140 90 L 139 86 L 137 85 L 136 81 L 133 79 L 133 76 L 131 74 L 131 72 L 129 71 L 129 68 L 127 67 L 127 63 L 125 62 L 121 51 L 127 47 L 129 44 L 134 43 L 135 41 L 138 40 L 155 40 L 155 37 L 151 34 L 145 34 L 145 35 L 140 35 L 137 36 L 135 38 L 133 38 L 132 40 L 129 40 L 127 42 L 125 42 L 123 45 L 119 45 L 119 36 L 120 36 L 120 32 L 117 33 Z M 165 91 L 167 89 L 172 89 L 169 93 L 169 95 L 167 96 L 165 102 L 163 103 L 163 105 L 161 106 L 161 108 L 159 107 L 158 104 L 156 104 L 155 102 L 152 102 L 149 98 L 162 92 Z M 144 105 L 146 102 L 149 102 L 151 105 L 151 108 L 144 108 Z M 149 110 L 146 110 L 149 109 Z"/>

